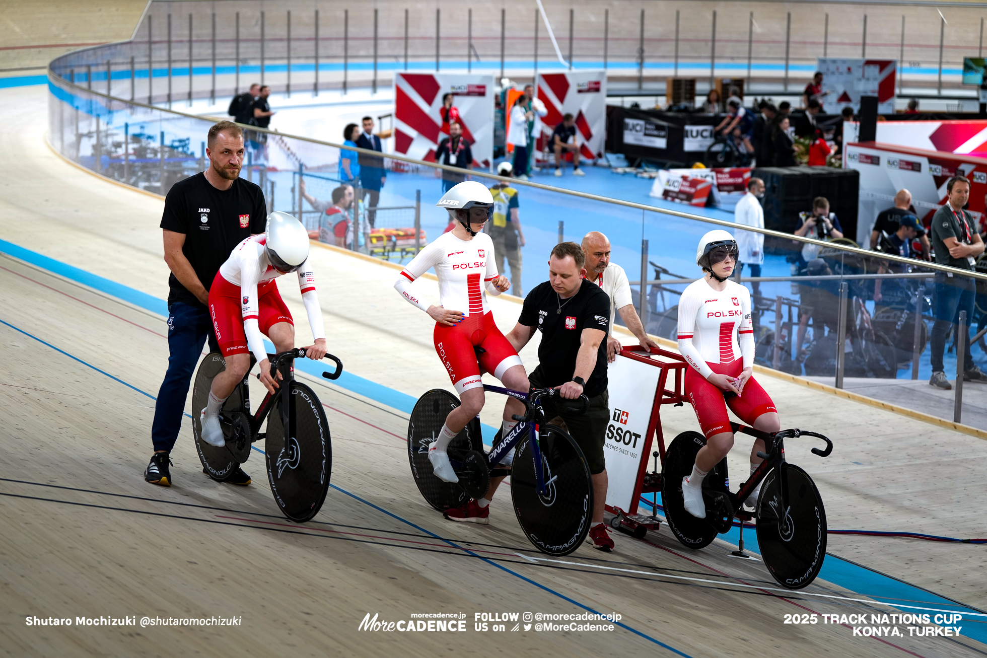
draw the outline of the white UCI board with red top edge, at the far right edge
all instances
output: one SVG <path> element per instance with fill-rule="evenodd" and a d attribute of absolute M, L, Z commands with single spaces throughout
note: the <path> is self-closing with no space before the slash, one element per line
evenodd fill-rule
<path fill-rule="evenodd" d="M 984 230 L 984 195 L 987 194 L 987 159 L 909 149 L 879 142 L 847 144 L 846 163 L 860 172 L 857 243 L 869 245 L 877 213 L 894 205 L 901 188 L 912 193 L 912 205 L 926 227 L 946 203 L 946 183 L 956 175 L 970 180 L 969 210 Z"/>

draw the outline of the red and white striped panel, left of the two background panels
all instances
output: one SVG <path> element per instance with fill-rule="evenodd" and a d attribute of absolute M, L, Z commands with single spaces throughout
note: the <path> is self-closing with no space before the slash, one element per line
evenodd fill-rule
<path fill-rule="evenodd" d="M 396 73 L 394 76 L 394 150 L 434 162 L 443 137 L 442 97 L 453 94 L 463 135 L 473 149 L 473 167 L 493 163 L 493 75 Z"/>

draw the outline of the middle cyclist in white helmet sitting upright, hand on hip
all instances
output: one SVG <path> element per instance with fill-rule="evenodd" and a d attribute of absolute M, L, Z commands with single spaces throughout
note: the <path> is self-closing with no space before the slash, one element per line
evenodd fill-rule
<path fill-rule="evenodd" d="M 435 205 L 446 208 L 458 223 L 422 249 L 402 270 L 394 287 L 435 320 L 435 351 L 462 402 L 449 412 L 438 439 L 428 449 L 435 475 L 446 482 L 456 482 L 459 478 L 449 464 L 446 447 L 484 406 L 481 370 L 493 373 L 505 387 L 515 391 L 528 390 L 528 376 L 521 357 L 493 324 L 487 304 L 486 292 L 499 295 L 510 287 L 507 277 L 496 271 L 493 241 L 481 233 L 493 214 L 490 190 L 475 181 L 459 183 Z M 437 305 L 420 299 L 412 286 L 432 267 L 438 276 Z M 484 349 L 479 358 L 475 347 Z M 510 419 L 514 413 L 523 414 L 524 404 L 508 398 L 503 410 L 504 436 L 517 424 Z M 484 502 L 481 505 L 486 506 Z"/>

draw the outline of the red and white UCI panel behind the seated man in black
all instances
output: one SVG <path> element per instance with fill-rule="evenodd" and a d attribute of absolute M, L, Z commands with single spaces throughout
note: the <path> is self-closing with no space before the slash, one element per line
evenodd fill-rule
<path fill-rule="evenodd" d="M 567 71 L 539 73 L 536 94 L 549 113 L 542 123 L 550 130 L 571 113 L 575 118 L 579 154 L 583 158 L 603 155 L 607 129 L 607 74 L 605 71 Z M 541 151 L 544 136 L 539 136 Z"/>

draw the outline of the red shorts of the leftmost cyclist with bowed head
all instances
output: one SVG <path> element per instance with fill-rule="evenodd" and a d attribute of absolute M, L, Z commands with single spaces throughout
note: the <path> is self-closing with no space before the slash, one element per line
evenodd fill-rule
<path fill-rule="evenodd" d="M 277 284 L 273 280 L 258 285 L 257 297 L 260 306 L 258 325 L 262 333 L 267 335 L 270 328 L 277 323 L 294 326 L 291 312 L 277 292 Z M 209 288 L 209 315 L 212 317 L 212 328 L 216 330 L 219 352 L 223 356 L 250 353 L 247 348 L 247 334 L 244 333 L 240 286 L 230 283 L 219 272 L 216 272 L 216 278 Z"/>

